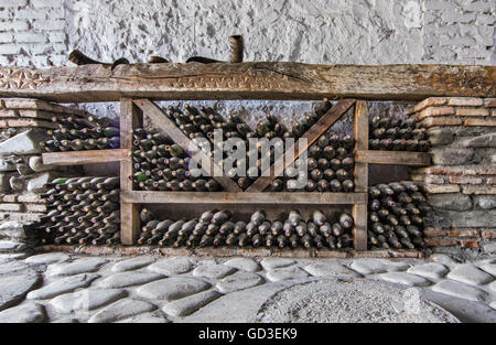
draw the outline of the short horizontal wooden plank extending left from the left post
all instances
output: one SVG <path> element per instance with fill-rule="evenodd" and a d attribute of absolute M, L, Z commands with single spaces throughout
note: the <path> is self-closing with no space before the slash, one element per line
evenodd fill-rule
<path fill-rule="evenodd" d="M 42 153 L 43 164 L 50 165 L 77 165 L 105 162 L 119 162 L 127 160 L 130 155 L 128 149 L 111 150 L 85 150 L 66 152 Z"/>

